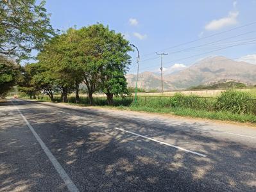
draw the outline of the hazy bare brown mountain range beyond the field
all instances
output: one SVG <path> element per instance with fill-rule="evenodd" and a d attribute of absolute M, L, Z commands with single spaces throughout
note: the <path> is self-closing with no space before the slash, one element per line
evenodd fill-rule
<path fill-rule="evenodd" d="M 126 79 L 128 86 L 135 86 L 136 75 L 128 74 Z M 178 90 L 228 81 L 246 85 L 256 84 L 256 65 L 230 60 L 223 56 L 206 58 L 175 74 L 165 75 L 164 90 Z M 142 72 L 139 74 L 138 86 L 146 90 L 160 90 L 160 75 L 154 72 Z"/>

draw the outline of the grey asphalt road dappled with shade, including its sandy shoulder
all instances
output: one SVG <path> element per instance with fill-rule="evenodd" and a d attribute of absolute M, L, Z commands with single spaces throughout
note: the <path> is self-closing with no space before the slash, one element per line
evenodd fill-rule
<path fill-rule="evenodd" d="M 256 128 L 0 102 L 2 191 L 256 191 Z"/>

